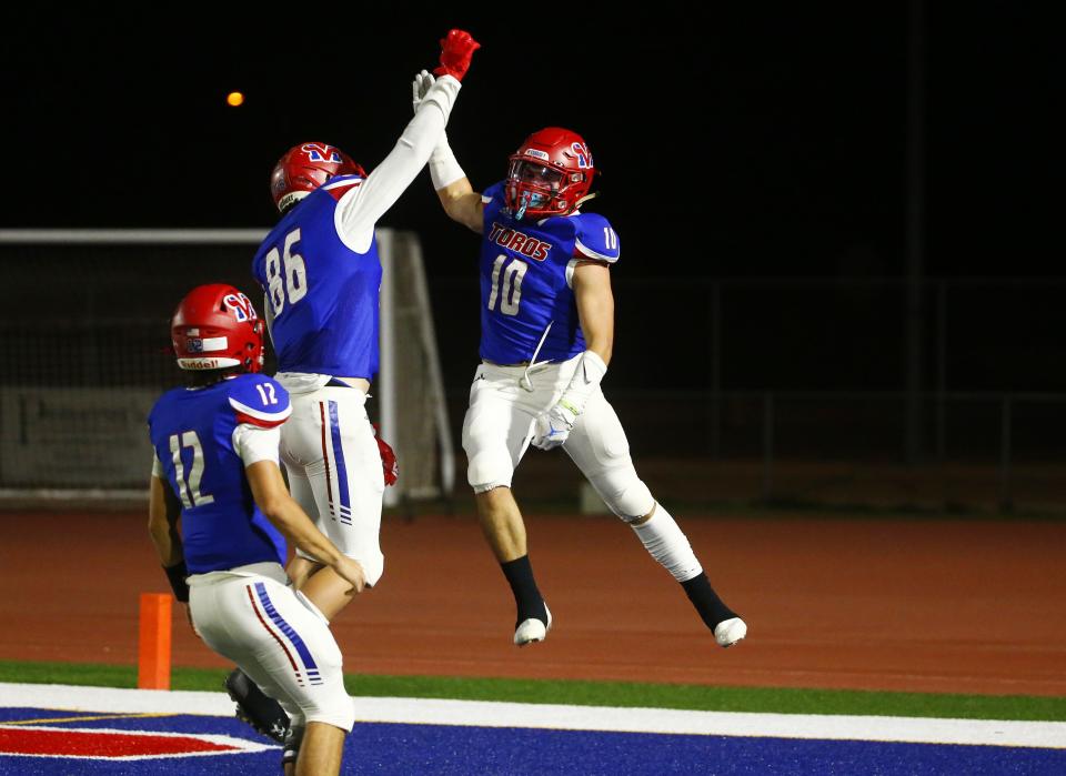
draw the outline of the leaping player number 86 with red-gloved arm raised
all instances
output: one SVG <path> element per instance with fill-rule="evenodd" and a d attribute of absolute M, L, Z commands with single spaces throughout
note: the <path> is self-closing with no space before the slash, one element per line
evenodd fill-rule
<path fill-rule="evenodd" d="M 462 30 L 441 40 L 434 70 L 440 78 L 369 175 L 332 145 L 290 149 L 271 174 L 281 220 L 252 262 L 266 296 L 275 379 L 292 396 L 292 419 L 281 434 L 289 486 L 318 527 L 362 564 L 368 587 L 384 571 L 381 500 L 386 481 L 395 477 L 395 458 L 375 440 L 365 410 L 378 372 L 381 262 L 374 226 L 436 145 L 479 46 Z M 351 585 L 321 558 L 298 550 L 288 571 L 328 621 L 351 599 Z M 227 688 L 239 715 L 257 728 L 269 733 L 284 725 L 276 706 L 239 673 Z"/>

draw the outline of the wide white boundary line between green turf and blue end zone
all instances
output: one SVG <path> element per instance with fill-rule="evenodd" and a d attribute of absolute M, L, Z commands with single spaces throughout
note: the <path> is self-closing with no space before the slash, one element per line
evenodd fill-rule
<path fill-rule="evenodd" d="M 1066 723 L 356 697 L 359 722 L 1066 748 Z M 0 706 L 230 716 L 225 693 L 0 683 Z"/>

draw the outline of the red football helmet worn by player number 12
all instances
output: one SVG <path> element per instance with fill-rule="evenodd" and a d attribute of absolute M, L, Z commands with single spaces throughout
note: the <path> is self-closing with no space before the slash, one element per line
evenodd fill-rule
<path fill-rule="evenodd" d="M 263 366 L 263 322 L 251 300 L 225 283 L 185 294 L 170 322 L 170 340 L 183 370 Z"/>

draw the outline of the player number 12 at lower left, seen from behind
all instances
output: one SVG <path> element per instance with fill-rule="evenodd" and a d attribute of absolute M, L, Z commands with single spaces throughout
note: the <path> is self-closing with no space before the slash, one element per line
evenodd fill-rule
<path fill-rule="evenodd" d="M 365 572 L 285 488 L 278 451 L 292 407 L 285 389 L 259 374 L 263 324 L 249 299 L 230 285 L 193 289 L 171 340 L 191 385 L 149 414 L 152 542 L 198 635 L 288 713 L 285 773 L 336 774 L 355 713 L 329 625 L 285 574 L 285 537 L 351 595 Z"/>

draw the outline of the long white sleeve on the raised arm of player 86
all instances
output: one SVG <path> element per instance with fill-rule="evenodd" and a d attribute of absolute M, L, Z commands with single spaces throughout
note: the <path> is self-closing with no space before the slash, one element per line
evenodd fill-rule
<path fill-rule="evenodd" d="M 425 167 L 444 131 L 459 89 L 459 81 L 451 75 L 436 79 L 389 155 L 365 181 L 341 196 L 336 204 L 336 233 L 353 251 L 366 251 L 378 219 Z"/>

